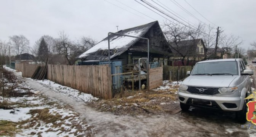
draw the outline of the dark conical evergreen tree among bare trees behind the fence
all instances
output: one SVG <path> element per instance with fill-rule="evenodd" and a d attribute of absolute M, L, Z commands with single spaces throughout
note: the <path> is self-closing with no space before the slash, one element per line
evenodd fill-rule
<path fill-rule="evenodd" d="M 48 58 L 49 50 L 44 38 L 42 38 L 40 42 L 37 53 L 38 53 L 39 61 L 46 61 L 46 59 Z"/>

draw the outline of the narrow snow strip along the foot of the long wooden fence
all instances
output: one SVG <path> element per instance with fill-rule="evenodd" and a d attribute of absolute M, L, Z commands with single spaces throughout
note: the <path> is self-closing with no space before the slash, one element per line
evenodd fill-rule
<path fill-rule="evenodd" d="M 31 80 L 33 80 L 33 79 L 31 79 Z M 75 89 L 72 89 L 67 86 L 62 86 L 62 85 L 57 84 L 51 80 L 44 79 L 44 80 L 35 80 L 35 81 L 37 81 L 43 85 L 46 85 L 59 93 L 68 95 L 69 97 L 76 98 L 78 100 L 82 100 L 84 102 L 98 100 L 97 97 L 93 97 L 91 94 L 82 93 L 79 90 L 75 90 Z"/>

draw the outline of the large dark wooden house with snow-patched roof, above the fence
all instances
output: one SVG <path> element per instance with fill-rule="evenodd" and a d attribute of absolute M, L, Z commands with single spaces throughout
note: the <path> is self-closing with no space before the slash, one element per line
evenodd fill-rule
<path fill-rule="evenodd" d="M 136 26 L 133 28 L 120 30 L 117 33 L 144 37 L 150 39 L 150 61 L 158 61 L 167 65 L 168 44 L 158 24 L 158 21 Z M 107 34 L 107 32 L 106 32 Z M 135 64 L 139 58 L 148 57 L 147 40 L 125 37 L 120 35 L 110 35 L 110 58 L 115 61 L 122 61 L 123 65 Z M 108 37 L 101 40 L 94 47 L 76 57 L 78 61 L 107 61 L 108 60 Z"/>

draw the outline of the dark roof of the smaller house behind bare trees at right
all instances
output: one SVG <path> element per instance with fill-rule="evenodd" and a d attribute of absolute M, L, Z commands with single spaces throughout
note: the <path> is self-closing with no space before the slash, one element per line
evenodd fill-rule
<path fill-rule="evenodd" d="M 170 45 L 172 46 L 172 53 L 178 54 L 178 55 L 179 53 L 183 55 L 185 54 L 188 55 L 189 53 L 195 53 L 197 50 L 197 45 L 199 44 L 200 41 L 202 41 L 202 44 L 204 44 L 202 39 L 182 40 L 182 41 L 177 41 L 177 44 L 175 42 L 172 42 L 170 43 Z"/>

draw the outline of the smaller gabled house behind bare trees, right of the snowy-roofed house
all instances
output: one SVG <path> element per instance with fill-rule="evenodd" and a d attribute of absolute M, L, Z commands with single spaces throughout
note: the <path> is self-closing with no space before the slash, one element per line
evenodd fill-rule
<path fill-rule="evenodd" d="M 189 60 L 200 60 L 204 56 L 204 41 L 203 39 L 182 40 L 170 43 L 172 46 L 172 57 L 170 59 L 182 59 L 182 55 L 186 55 Z M 186 59 L 187 60 L 187 59 Z"/>

